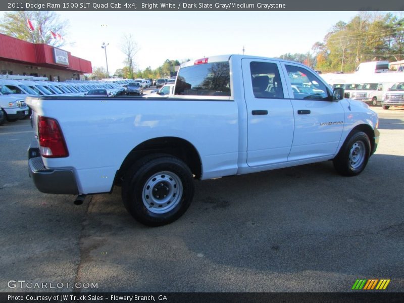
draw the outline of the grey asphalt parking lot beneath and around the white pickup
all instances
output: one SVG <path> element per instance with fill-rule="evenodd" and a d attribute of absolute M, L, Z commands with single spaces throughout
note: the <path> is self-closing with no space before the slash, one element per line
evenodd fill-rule
<path fill-rule="evenodd" d="M 185 215 L 157 228 L 132 219 L 119 187 L 81 206 L 36 190 L 29 120 L 6 123 L 0 291 L 345 292 L 357 279 L 391 279 L 385 291 L 402 292 L 404 109 L 375 110 L 379 147 L 360 176 L 324 162 L 197 181 Z"/>

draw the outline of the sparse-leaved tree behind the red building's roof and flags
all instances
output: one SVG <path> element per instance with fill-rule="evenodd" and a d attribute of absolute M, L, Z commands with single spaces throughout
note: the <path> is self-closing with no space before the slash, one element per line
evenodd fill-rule
<path fill-rule="evenodd" d="M 29 19 L 34 27 L 31 31 L 27 25 Z M 56 12 L 6 12 L 0 22 L 0 32 L 8 36 L 25 40 L 31 43 L 46 43 L 56 47 L 66 45 L 64 39 L 55 39 L 51 33 L 66 35 L 69 22 L 60 20 Z"/>

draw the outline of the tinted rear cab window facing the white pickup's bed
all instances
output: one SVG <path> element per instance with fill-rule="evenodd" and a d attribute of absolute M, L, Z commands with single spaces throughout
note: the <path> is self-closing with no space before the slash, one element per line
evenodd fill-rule
<path fill-rule="evenodd" d="M 230 64 L 228 57 L 195 60 L 181 67 L 175 85 L 175 97 L 182 95 L 203 98 L 231 96 Z M 226 60 L 226 61 L 224 61 Z"/>

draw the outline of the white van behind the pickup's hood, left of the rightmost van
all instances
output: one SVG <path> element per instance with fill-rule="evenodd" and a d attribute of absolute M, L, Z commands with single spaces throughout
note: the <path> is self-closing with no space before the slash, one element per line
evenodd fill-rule
<path fill-rule="evenodd" d="M 377 106 L 383 99 L 383 94 L 387 92 L 391 83 L 361 83 L 356 89 L 350 92 L 349 97 L 367 104 Z"/>

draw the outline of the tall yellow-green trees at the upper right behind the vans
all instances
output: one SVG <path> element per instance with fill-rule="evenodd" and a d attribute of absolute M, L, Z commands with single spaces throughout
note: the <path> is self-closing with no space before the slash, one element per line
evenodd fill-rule
<path fill-rule="evenodd" d="M 361 62 L 404 59 L 404 18 L 387 13 L 359 13 L 339 21 L 312 50 L 316 69 L 353 72 Z"/>

